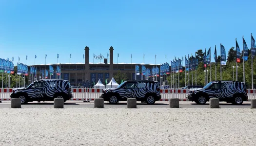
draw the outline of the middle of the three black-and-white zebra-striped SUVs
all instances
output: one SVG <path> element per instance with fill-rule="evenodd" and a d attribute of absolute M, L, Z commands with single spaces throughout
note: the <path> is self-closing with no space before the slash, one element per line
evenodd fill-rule
<path fill-rule="evenodd" d="M 118 101 L 126 101 L 127 98 L 136 98 L 137 101 L 154 104 L 161 99 L 158 82 L 154 81 L 125 81 L 117 88 L 104 89 L 100 96 L 104 101 L 117 104 Z"/>

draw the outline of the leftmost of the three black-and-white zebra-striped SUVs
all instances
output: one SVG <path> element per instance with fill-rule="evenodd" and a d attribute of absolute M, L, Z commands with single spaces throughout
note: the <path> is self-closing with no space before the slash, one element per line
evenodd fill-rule
<path fill-rule="evenodd" d="M 59 79 L 37 80 L 27 88 L 14 89 L 11 98 L 20 98 L 21 104 L 32 101 L 53 101 L 63 98 L 64 102 L 73 98 L 69 81 Z"/>

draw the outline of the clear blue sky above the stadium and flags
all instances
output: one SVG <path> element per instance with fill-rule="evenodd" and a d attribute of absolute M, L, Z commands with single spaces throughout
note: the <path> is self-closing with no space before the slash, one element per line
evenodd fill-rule
<path fill-rule="evenodd" d="M 84 47 L 114 62 L 157 64 L 220 43 L 242 50 L 256 37 L 256 0 L 0 0 L 0 58 L 36 64 L 82 62 Z M 103 60 L 102 60 L 103 61 Z M 213 60 L 212 60 L 213 61 Z M 99 62 L 96 59 L 94 62 Z"/>

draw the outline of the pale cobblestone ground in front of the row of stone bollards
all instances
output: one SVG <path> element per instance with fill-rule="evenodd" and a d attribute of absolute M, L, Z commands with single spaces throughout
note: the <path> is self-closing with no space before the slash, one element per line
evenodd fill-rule
<path fill-rule="evenodd" d="M 255 146 L 255 109 L 0 109 L 0 146 Z"/>

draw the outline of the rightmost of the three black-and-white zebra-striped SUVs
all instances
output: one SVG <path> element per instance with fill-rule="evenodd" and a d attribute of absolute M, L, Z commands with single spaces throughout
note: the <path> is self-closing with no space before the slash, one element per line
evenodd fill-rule
<path fill-rule="evenodd" d="M 236 81 L 213 81 L 202 89 L 191 89 L 188 94 L 188 99 L 197 104 L 205 104 L 210 98 L 241 105 L 248 100 L 246 85 Z"/>

